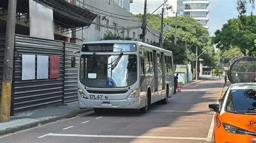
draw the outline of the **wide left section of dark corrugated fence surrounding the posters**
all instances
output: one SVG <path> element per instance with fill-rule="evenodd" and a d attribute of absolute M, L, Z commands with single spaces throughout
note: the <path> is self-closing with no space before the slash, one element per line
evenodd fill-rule
<path fill-rule="evenodd" d="M 62 103 L 64 95 L 63 42 L 16 35 L 15 48 L 18 51 L 18 59 L 15 61 L 15 112 Z M 60 57 L 60 77 L 22 81 L 22 54 L 58 55 Z"/>

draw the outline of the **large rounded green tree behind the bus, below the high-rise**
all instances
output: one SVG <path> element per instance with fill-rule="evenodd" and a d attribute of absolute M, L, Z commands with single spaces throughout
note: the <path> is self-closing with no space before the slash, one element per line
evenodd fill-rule
<path fill-rule="evenodd" d="M 135 15 L 139 19 L 143 19 L 142 14 Z M 147 25 L 153 27 L 160 33 L 161 16 L 147 14 Z M 210 35 L 206 28 L 204 28 L 197 20 L 191 17 L 179 16 L 177 17 L 177 44 L 174 44 L 174 27 L 175 17 L 164 18 L 164 25 L 169 24 L 172 28 L 169 32 L 164 32 L 163 48 L 173 52 L 174 64 L 184 64 L 186 60 L 190 61 L 192 65 L 196 61 L 196 47 L 198 47 L 198 55 L 207 49 L 201 56 L 204 63 L 208 66 L 214 65 L 214 47 Z M 187 51 L 187 47 L 191 48 Z M 159 43 L 152 43 L 151 45 L 158 46 Z"/>

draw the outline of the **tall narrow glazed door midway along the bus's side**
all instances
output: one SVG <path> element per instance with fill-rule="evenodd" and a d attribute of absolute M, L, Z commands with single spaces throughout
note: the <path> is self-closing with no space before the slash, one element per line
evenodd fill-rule
<path fill-rule="evenodd" d="M 158 95 L 162 94 L 163 90 L 163 74 L 162 74 L 162 66 L 161 66 L 161 54 L 157 52 L 157 83 L 158 83 Z M 159 97 L 160 99 L 161 97 Z"/>

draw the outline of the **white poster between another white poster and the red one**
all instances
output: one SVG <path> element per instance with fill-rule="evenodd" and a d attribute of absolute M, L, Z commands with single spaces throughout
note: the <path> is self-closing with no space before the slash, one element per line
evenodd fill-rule
<path fill-rule="evenodd" d="M 49 56 L 37 55 L 37 79 L 48 78 Z"/>

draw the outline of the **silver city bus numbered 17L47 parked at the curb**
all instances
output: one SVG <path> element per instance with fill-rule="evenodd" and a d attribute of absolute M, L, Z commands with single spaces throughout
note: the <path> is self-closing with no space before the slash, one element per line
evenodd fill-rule
<path fill-rule="evenodd" d="M 139 41 L 103 40 L 85 42 L 78 52 L 79 108 L 145 113 L 152 103 L 166 104 L 173 93 L 171 51 Z M 72 56 L 72 67 L 75 61 Z"/>

